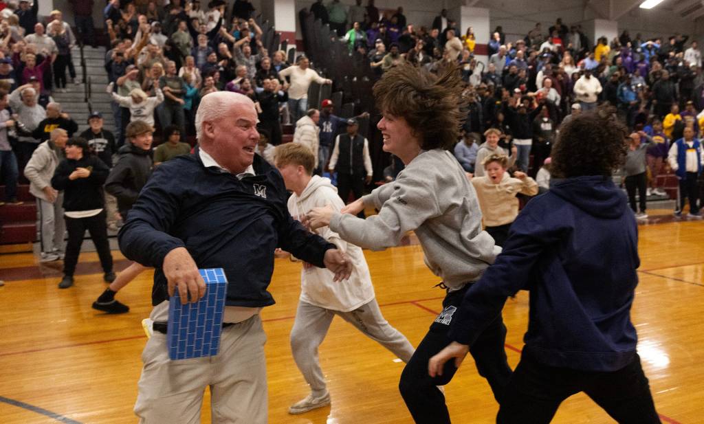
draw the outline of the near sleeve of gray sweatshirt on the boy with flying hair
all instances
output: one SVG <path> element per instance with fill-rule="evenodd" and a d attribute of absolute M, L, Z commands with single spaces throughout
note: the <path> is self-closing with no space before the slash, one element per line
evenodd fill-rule
<path fill-rule="evenodd" d="M 414 179 L 398 179 L 393 193 L 379 214 L 360 219 L 351 214 L 333 215 L 330 229 L 343 240 L 360 248 L 383 250 L 401 243 L 407 231 L 417 229 L 427 219 L 440 214 L 435 193 L 427 184 Z M 383 187 L 383 186 L 382 186 Z"/>

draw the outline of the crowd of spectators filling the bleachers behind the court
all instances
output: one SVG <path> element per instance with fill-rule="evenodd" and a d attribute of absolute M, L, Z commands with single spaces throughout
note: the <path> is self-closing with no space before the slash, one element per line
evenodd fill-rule
<path fill-rule="evenodd" d="M 38 1 L 0 1 L 0 94 L 8 94 L 6 119 L 0 122 L 0 133 L 6 134 L 7 141 L 0 135 L 0 154 L 9 203 L 17 203 L 13 186 L 37 146 L 51 141 L 54 129 L 64 129 L 69 138 L 77 131 L 77 123 L 51 94 L 77 82 L 73 46 L 95 45 L 99 37 L 89 13 L 96 6 L 94 1 L 71 3 L 79 37 L 61 11 L 40 19 Z M 560 124 L 608 103 L 646 146 L 642 177 L 647 195 L 665 194 L 656 181 L 666 168 L 678 172 L 686 193 L 698 190 L 704 158 L 698 143 L 704 124 L 704 76 L 698 45 L 686 35 L 644 39 L 624 31 L 620 37 L 600 37 L 592 44 L 581 25 L 568 26 L 560 18 L 547 30 L 536 23 L 525 37 L 515 40 L 507 39 L 503 29 L 496 27 L 486 46 L 489 56 L 484 65 L 475 57 L 478 46 L 472 27 L 460 32 L 446 10 L 434 17 L 430 27 L 409 23 L 402 7 L 379 11 L 373 0 L 367 0 L 366 6 L 361 0 L 353 6 L 318 0 L 310 6 L 310 13 L 329 25 L 336 42 L 348 46 L 355 63 L 368 64 L 372 78 L 398 65 L 432 72 L 448 66 L 458 69 L 465 82 L 466 120 L 454 151 L 470 174 L 482 176 L 484 158 L 505 155 L 507 159 L 499 162 L 505 163 L 509 174 L 518 171 L 535 177 L 541 171 L 543 186 L 547 186 L 547 163 Z M 353 155 L 361 153 L 352 153 L 354 146 L 364 146 L 360 147 L 364 151 L 361 160 L 350 171 L 351 180 L 348 176 L 337 180 L 345 186 L 344 193 L 353 191 L 358 197 L 360 187 L 372 181 L 372 174 L 388 181 L 403 169 L 401 161 L 391 158 L 386 162 L 389 167 L 375 172 L 369 160 L 370 141 L 374 140 L 370 134 L 358 139 L 356 128 L 350 131 L 347 120 L 332 113 L 329 99 L 320 99 L 320 108 L 308 104 L 310 84 L 333 84 L 339 90 L 339 82 L 315 70 L 305 55 L 288 63 L 286 51 L 268 51 L 249 1 L 237 0 L 231 7 L 222 0 L 208 4 L 109 0 L 103 16 L 109 44 L 104 68 L 115 126 L 103 128 L 102 115 L 95 113 L 89 118 L 90 129 L 80 135 L 108 168 L 115 165 L 113 155 L 130 149 L 130 143 L 125 143 L 130 122 L 153 127 L 155 145 L 164 143 L 156 149 L 154 166 L 187 153 L 189 146 L 184 141 L 194 143 L 200 99 L 213 91 L 234 91 L 256 103 L 262 136 L 257 150 L 270 161 L 272 145 L 283 139 L 282 124 L 291 124 L 294 141 L 313 151 L 318 174 L 331 171 L 331 155 L 334 164 L 346 163 L 348 158 L 339 155 L 352 155 L 349 160 L 355 160 Z M 693 136 L 686 139 L 689 128 Z M 671 146 L 677 146 L 680 139 L 691 143 L 681 145 L 677 153 Z M 49 147 L 61 161 L 61 148 L 56 143 Z M 689 158 L 688 152 L 695 152 L 695 157 Z M 46 197 L 42 201 L 56 201 L 56 194 L 46 193 L 51 189 L 47 181 L 32 183 L 40 198 Z M 641 187 L 640 175 L 638 181 L 628 186 Z M 696 216 L 694 203 L 690 212 Z M 120 216 L 114 212 L 114 199 L 106 203 L 108 208 L 111 205 L 108 228 L 115 229 Z M 48 205 L 43 207 L 49 212 Z M 42 250 L 47 260 L 61 256 L 49 243 L 51 237 L 51 232 L 44 237 L 51 249 Z"/>

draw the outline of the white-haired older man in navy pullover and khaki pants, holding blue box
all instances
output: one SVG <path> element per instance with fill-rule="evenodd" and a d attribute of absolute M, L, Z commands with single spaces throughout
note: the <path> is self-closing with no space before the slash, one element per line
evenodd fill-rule
<path fill-rule="evenodd" d="M 134 412 L 140 423 L 199 423 L 210 386 L 213 423 L 267 422 L 264 334 L 259 312 L 274 303 L 267 291 L 274 250 L 334 271 L 348 259 L 287 212 L 279 172 L 255 154 L 254 103 L 218 91 L 196 113 L 199 148 L 163 163 L 144 186 L 119 234 L 128 258 L 154 266 L 151 319 Z M 199 268 L 223 268 L 229 281 L 220 353 L 170 361 L 165 332 L 174 290 L 195 302 L 206 286 Z M 190 295 L 190 297 L 189 297 Z"/>

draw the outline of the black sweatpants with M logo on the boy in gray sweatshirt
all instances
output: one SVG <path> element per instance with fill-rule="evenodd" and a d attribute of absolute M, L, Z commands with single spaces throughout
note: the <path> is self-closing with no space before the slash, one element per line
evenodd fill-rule
<path fill-rule="evenodd" d="M 415 349 L 415 353 L 401 373 L 398 390 L 401 391 L 410 415 L 418 424 L 450 423 L 445 395 L 436 386 L 450 383 L 457 371 L 455 361 L 447 361 L 443 374 L 434 378 L 428 375 L 428 361 L 452 342 L 447 335 L 450 323 L 470 286 L 471 283 L 461 290 L 446 295 L 443 300 L 443 311 L 432 323 L 425 338 Z M 501 314 L 498 314 L 470 348 L 470 354 L 477 364 L 477 371 L 489 382 L 496 401 L 503 396 L 503 390 L 511 377 L 511 368 L 506 361 L 504 350 L 505 340 L 506 327 L 503 325 Z"/>

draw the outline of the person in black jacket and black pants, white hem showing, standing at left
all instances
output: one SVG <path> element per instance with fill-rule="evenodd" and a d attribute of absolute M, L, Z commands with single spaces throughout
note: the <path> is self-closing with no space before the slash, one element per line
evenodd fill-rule
<path fill-rule="evenodd" d="M 73 273 L 86 230 L 98 251 L 105 273 L 103 279 L 111 282 L 115 280 L 115 273 L 108 244 L 103 200 L 103 183 L 110 170 L 102 160 L 90 154 L 88 142 L 80 137 L 70 139 L 66 143 L 65 153 L 65 160 L 58 164 L 51 179 L 51 186 L 63 191 L 64 217 L 68 230 L 63 279 L 58 288 L 69 288 L 73 285 Z"/>

